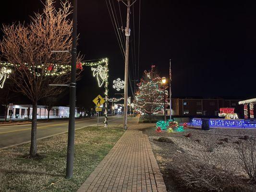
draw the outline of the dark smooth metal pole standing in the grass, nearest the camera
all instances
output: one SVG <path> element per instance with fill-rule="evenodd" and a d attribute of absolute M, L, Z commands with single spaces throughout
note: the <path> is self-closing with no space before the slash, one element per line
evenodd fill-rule
<path fill-rule="evenodd" d="M 71 58 L 71 82 L 69 91 L 69 126 L 66 177 L 73 177 L 74 164 L 74 121 L 75 121 L 75 88 L 76 88 L 76 38 L 77 38 L 77 0 L 73 0 L 73 34 Z"/>

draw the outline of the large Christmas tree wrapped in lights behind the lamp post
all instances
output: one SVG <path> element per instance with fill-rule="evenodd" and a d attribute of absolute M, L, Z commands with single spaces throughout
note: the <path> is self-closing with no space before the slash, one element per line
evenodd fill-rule
<path fill-rule="evenodd" d="M 135 100 L 136 110 L 146 115 L 153 115 L 163 110 L 164 90 L 161 86 L 161 78 L 155 72 L 154 65 L 151 67 L 151 71 L 144 71 L 138 88 Z M 167 91 L 165 91 L 165 94 L 168 95 Z"/>

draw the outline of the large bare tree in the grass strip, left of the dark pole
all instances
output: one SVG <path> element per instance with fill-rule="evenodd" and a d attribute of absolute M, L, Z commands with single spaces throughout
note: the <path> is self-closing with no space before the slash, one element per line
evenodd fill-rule
<path fill-rule="evenodd" d="M 71 4 L 61 2 L 61 8 L 46 0 L 42 13 L 35 13 L 29 24 L 3 25 L 0 50 L 11 64 L 10 79 L 16 91 L 27 96 L 33 105 L 30 157 L 37 155 L 37 101 L 58 95 L 62 87 L 49 84 L 67 84 L 70 81 L 69 53 L 52 53 L 50 50 L 72 48 Z M 2 64 L 3 65 L 3 64 Z M 80 71 L 79 71 L 80 72 Z"/>

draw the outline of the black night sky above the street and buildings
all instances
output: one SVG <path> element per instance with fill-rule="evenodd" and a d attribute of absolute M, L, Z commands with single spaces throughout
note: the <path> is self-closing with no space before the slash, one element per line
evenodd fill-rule
<path fill-rule="evenodd" d="M 118 8 L 118 3 L 114 3 Z M 125 23 L 126 8 L 120 5 Z M 138 7 L 139 0 L 134 3 L 136 58 Z M 42 10 L 40 0 L 5 1 L 0 23 L 27 22 L 28 15 L 38 10 Z M 173 97 L 255 97 L 255 10 L 254 0 L 141 0 L 139 77 L 152 64 L 160 76 L 168 77 L 171 58 Z M 85 55 L 84 60 L 110 59 L 113 96 L 112 81 L 124 79 L 124 61 L 105 0 L 78 0 L 78 32 L 78 51 Z M 133 73 L 134 64 L 129 65 Z M 85 68 L 77 85 L 77 105 L 92 107 L 91 100 L 103 93 L 90 68 Z M 60 100 L 61 105 L 67 105 L 68 92 Z"/>

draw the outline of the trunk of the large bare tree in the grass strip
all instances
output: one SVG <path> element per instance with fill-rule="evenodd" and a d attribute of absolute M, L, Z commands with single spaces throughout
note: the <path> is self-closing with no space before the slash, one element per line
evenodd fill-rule
<path fill-rule="evenodd" d="M 37 101 L 33 102 L 30 157 L 37 155 Z"/>

